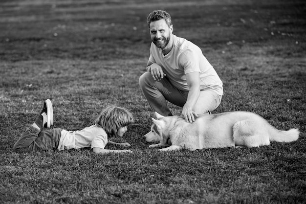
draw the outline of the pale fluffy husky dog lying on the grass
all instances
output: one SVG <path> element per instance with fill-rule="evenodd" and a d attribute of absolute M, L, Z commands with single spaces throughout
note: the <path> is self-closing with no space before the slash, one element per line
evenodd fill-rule
<path fill-rule="evenodd" d="M 299 137 L 298 129 L 277 130 L 261 116 L 250 112 L 204 114 L 188 123 L 180 116 L 162 116 L 155 112 L 151 131 L 146 141 L 159 141 L 149 148 L 165 147 L 160 151 L 222 148 L 259 147 L 271 141 L 291 142 Z M 168 144 L 170 139 L 171 145 Z"/>

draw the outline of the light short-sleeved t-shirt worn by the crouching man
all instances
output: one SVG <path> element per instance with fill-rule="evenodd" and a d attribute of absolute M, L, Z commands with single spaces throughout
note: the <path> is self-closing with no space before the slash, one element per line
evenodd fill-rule
<path fill-rule="evenodd" d="M 179 90 L 189 91 L 185 74 L 200 72 L 200 90 L 211 89 L 223 95 L 222 81 L 216 70 L 203 55 L 202 50 L 192 42 L 173 36 L 173 47 L 167 55 L 153 43 L 149 61 L 163 69 L 170 82 Z"/>

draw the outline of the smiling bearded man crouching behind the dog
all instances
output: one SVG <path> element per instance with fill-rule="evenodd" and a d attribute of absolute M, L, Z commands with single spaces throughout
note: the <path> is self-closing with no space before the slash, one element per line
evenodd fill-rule
<path fill-rule="evenodd" d="M 153 111 L 171 116 L 167 100 L 183 107 L 181 116 L 192 123 L 195 116 L 215 110 L 223 94 L 222 81 L 201 49 L 173 34 L 166 11 L 153 11 L 147 22 L 152 44 L 139 85 Z"/>

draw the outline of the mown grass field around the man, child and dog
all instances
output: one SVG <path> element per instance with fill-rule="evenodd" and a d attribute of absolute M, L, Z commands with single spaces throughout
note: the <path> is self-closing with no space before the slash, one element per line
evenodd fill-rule
<path fill-rule="evenodd" d="M 174 34 L 200 46 L 219 73 L 224 96 L 214 113 L 254 112 L 278 129 L 299 128 L 300 138 L 148 149 L 153 113 L 138 78 L 155 9 L 166 9 Z M 305 13 L 304 0 L 1 0 L 0 203 L 306 203 Z M 117 140 L 133 153 L 14 153 L 46 98 L 54 127 L 66 130 L 89 126 L 112 104 L 129 109 L 135 123 Z"/>

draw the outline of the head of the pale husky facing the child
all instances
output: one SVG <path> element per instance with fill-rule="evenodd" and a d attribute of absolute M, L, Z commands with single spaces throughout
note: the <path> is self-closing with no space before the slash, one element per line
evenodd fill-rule
<path fill-rule="evenodd" d="M 169 131 L 167 129 L 167 117 L 155 112 L 156 119 L 152 118 L 153 125 L 151 131 L 147 133 L 144 138 L 147 142 L 159 141 L 161 144 L 166 144 L 169 138 Z"/>

